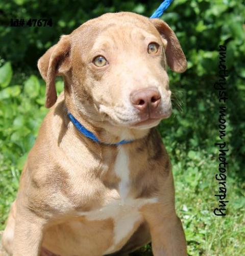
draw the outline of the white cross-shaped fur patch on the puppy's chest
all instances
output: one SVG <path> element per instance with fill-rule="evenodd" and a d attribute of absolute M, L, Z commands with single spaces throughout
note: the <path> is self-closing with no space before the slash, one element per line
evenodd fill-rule
<path fill-rule="evenodd" d="M 130 238 L 132 233 L 143 222 L 140 207 L 144 204 L 157 202 L 156 198 L 135 199 L 130 194 L 131 178 L 129 156 L 123 147 L 118 148 L 114 164 L 114 174 L 119 178 L 117 189 L 110 190 L 106 203 L 99 209 L 86 213 L 91 221 L 113 220 L 113 243 L 105 252 L 112 253 L 118 249 L 122 241 Z"/>

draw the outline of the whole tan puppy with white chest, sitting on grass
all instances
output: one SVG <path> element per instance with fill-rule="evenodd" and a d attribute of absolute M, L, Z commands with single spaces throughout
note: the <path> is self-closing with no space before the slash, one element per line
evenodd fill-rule
<path fill-rule="evenodd" d="M 175 33 L 127 12 L 89 20 L 39 59 L 52 108 L 4 231 L 9 254 L 121 255 L 152 241 L 154 255 L 186 255 L 170 161 L 154 128 L 171 114 L 167 65 L 186 70 Z M 57 75 L 65 82 L 58 100 Z M 132 141 L 108 145 L 121 140 Z"/>

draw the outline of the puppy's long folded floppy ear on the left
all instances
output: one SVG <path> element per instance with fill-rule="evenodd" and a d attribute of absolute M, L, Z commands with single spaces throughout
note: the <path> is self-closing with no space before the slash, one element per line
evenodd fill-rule
<path fill-rule="evenodd" d="M 46 82 L 46 108 L 51 108 L 57 100 L 55 77 L 64 75 L 70 69 L 69 51 L 69 36 L 63 35 L 37 62 L 39 72 Z"/>

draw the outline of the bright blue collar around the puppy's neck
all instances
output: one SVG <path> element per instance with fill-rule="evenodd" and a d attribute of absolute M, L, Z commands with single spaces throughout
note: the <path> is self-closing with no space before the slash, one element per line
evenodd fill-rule
<path fill-rule="evenodd" d="M 88 131 L 74 116 L 72 116 L 69 112 L 68 112 L 68 116 L 70 118 L 70 121 L 76 126 L 76 128 L 78 129 L 78 131 L 80 133 L 82 133 L 85 137 L 91 139 L 92 141 L 94 142 L 97 142 L 97 143 L 102 143 L 102 144 L 105 144 L 105 145 L 121 145 L 121 144 L 127 144 L 127 143 L 130 143 L 132 142 L 133 140 L 121 140 L 117 143 L 104 143 L 104 142 L 101 142 L 92 132 Z"/>

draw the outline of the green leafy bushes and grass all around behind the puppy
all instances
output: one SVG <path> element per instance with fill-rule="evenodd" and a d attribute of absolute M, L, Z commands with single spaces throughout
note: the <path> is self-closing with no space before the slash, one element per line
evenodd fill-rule
<path fill-rule="evenodd" d="M 60 35 L 106 12 L 132 11 L 150 16 L 161 1 L 0 2 L 0 230 L 4 229 L 18 180 L 32 147 L 44 108 L 45 84 L 37 59 Z M 176 31 L 188 60 L 184 74 L 169 72 L 174 113 L 159 131 L 170 154 L 177 211 L 189 255 L 245 255 L 244 100 L 245 7 L 242 0 L 175 0 L 163 19 Z M 9 26 L 10 18 L 53 18 L 54 26 Z M 227 46 L 228 210 L 215 217 L 218 184 L 218 45 Z M 61 80 L 57 90 L 63 90 Z M 147 245 L 132 255 L 152 255 Z"/>

